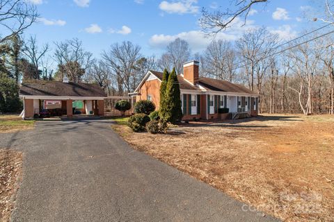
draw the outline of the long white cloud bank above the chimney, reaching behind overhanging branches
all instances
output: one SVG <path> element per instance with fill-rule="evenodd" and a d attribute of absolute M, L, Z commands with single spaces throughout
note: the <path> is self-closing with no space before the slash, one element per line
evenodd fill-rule
<path fill-rule="evenodd" d="M 253 25 L 254 21 L 248 19 L 245 26 L 244 21 L 241 19 L 236 19 L 231 28 L 228 31 L 224 31 L 218 33 L 215 37 L 215 40 L 227 40 L 227 41 L 234 41 L 239 39 L 244 33 L 244 31 L 255 28 Z M 150 37 L 150 46 L 154 48 L 164 49 L 166 46 L 173 42 L 177 37 L 180 37 L 182 40 L 186 40 L 191 46 L 193 51 L 201 51 L 207 47 L 207 45 L 212 41 L 212 38 L 207 37 L 201 31 L 188 31 L 183 33 L 178 33 L 176 35 L 164 35 L 164 34 L 156 34 Z"/>

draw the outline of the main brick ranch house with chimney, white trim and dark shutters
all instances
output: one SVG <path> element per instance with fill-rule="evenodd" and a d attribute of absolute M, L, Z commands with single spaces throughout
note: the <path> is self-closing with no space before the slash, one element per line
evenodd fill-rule
<path fill-rule="evenodd" d="M 225 80 L 199 77 L 199 62 L 184 63 L 184 74 L 177 76 L 180 83 L 183 120 L 218 119 L 219 108 L 228 108 L 232 117 L 246 114 L 257 116 L 259 95 L 243 85 Z M 159 109 L 160 85 L 163 73 L 148 71 L 135 92 L 134 101 L 150 100 Z"/>

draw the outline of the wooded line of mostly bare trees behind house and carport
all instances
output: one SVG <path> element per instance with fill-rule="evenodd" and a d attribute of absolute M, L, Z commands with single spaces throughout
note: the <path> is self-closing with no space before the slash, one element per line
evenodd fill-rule
<path fill-rule="evenodd" d="M 177 38 L 159 58 L 143 56 L 141 46 L 121 42 L 111 44 L 96 59 L 77 38 L 42 45 L 34 36 L 24 37 L 24 30 L 38 17 L 35 7 L 28 1 L 0 1 L 19 19 L 17 27 L 0 38 L 3 104 L 11 101 L 9 95 L 17 98 L 21 80 L 63 80 L 64 75 L 73 82 L 98 83 L 109 95 L 126 96 L 148 70 L 171 71 L 175 67 L 176 73 L 182 74 L 183 63 L 195 59 L 200 62 L 200 76 L 246 85 L 260 94 L 262 112 L 333 113 L 333 35 L 317 37 L 322 30 L 301 33 L 305 36 L 282 45 L 267 28 L 253 28 L 235 42 L 213 40 L 204 51 L 194 54 L 185 40 Z M 209 19 L 210 15 L 203 16 Z M 7 27 L 4 18 L 0 25 Z M 328 26 L 333 23 L 329 21 Z M 5 83 L 13 83 L 13 87 L 5 87 Z M 10 110 L 4 109 L 6 105 L 1 107 L 0 112 Z"/>

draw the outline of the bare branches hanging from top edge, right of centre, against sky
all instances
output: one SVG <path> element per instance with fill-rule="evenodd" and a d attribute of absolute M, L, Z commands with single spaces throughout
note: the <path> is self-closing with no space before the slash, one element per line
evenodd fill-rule
<path fill-rule="evenodd" d="M 200 26 L 202 30 L 207 34 L 216 34 L 224 31 L 226 28 L 230 27 L 232 22 L 243 17 L 246 23 L 248 13 L 253 5 L 257 3 L 266 3 L 267 0 L 232 0 L 230 1 L 234 4 L 235 9 L 230 10 L 216 10 L 215 12 L 209 12 L 209 10 L 202 9 L 202 17 L 200 18 Z"/>

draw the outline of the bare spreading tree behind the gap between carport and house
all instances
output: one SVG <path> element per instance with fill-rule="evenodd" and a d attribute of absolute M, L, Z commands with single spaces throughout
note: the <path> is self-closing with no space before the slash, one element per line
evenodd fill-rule
<path fill-rule="evenodd" d="M 113 44 L 109 51 L 103 51 L 102 58 L 111 69 L 111 73 L 118 83 L 118 94 L 132 91 L 132 82 L 136 73 L 136 62 L 141 58 L 141 47 L 132 42 Z"/>

